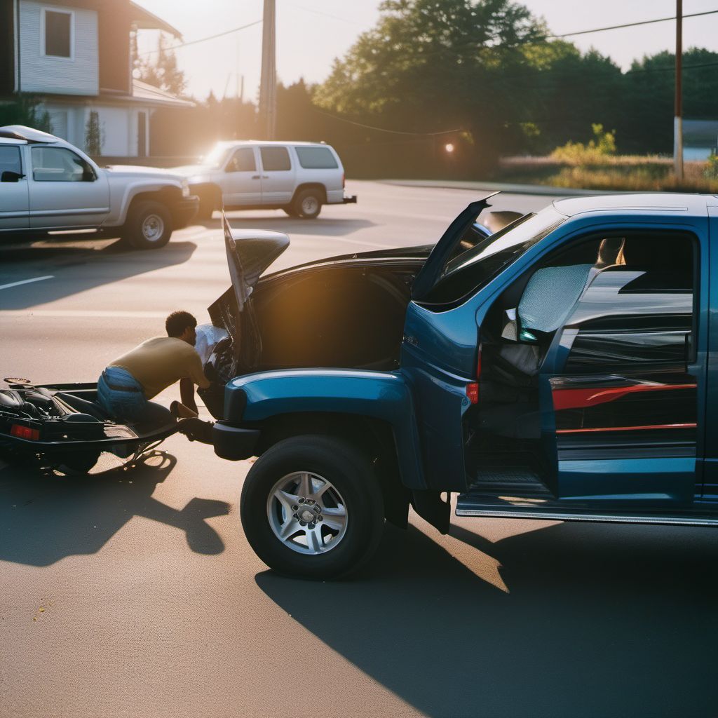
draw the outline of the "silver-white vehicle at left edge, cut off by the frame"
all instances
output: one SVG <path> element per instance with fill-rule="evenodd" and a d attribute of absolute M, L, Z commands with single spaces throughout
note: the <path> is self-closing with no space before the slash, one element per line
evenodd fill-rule
<path fill-rule="evenodd" d="M 99 167 L 59 137 L 0 127 L 0 239 L 96 229 L 137 249 L 167 244 L 197 213 L 187 180 L 154 167 Z"/>

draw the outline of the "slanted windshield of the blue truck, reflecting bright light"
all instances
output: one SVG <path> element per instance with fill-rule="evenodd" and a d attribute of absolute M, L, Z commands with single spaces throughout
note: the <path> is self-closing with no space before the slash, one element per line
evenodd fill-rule
<path fill-rule="evenodd" d="M 528 248 L 548 236 L 566 216 L 553 206 L 523 215 L 486 238 L 464 236 L 458 252 L 449 257 L 439 280 L 421 304 L 454 304 L 467 298 L 513 264 Z M 467 234 L 473 233 L 473 226 Z M 475 234 L 475 233 L 474 233 Z M 461 251 L 465 247 L 470 248 Z"/>

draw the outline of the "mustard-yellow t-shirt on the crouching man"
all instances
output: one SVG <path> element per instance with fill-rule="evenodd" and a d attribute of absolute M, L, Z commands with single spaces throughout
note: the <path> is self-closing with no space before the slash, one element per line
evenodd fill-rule
<path fill-rule="evenodd" d="M 202 371 L 200 355 L 192 345 L 177 337 L 152 337 L 109 366 L 129 371 L 148 399 L 180 379 L 190 378 L 202 388 L 210 386 Z"/>

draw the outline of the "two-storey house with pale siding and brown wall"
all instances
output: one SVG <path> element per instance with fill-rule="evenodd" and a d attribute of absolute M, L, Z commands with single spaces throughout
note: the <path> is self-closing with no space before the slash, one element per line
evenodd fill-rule
<path fill-rule="evenodd" d="M 95 112 L 103 156 L 146 157 L 154 109 L 193 103 L 132 78 L 136 29 L 181 38 L 130 0 L 1 0 L 0 98 L 37 95 L 53 133 L 83 148 Z"/>

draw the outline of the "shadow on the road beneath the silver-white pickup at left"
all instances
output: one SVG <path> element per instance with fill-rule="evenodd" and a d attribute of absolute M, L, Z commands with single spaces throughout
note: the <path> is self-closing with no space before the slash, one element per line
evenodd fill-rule
<path fill-rule="evenodd" d="M 5 290 L 0 293 L 0 309 L 36 307 L 86 292 L 95 286 L 184 264 L 195 249 L 197 245 L 190 241 L 170 241 L 167 246 L 147 251 L 126 248 L 120 241 L 109 241 L 102 248 L 92 248 L 81 246 L 71 236 L 64 236 L 57 243 L 52 240 L 32 245 L 0 245 L 0 284 L 31 279 L 33 275 L 52 275 L 57 269 L 87 266 L 87 271 L 73 272 L 67 281 L 49 279 L 21 286 L 19 290 L 22 291 Z M 19 265 L 25 266 L 21 268 Z M 29 288 L 32 291 L 27 291 Z"/>

